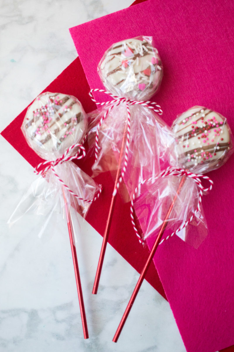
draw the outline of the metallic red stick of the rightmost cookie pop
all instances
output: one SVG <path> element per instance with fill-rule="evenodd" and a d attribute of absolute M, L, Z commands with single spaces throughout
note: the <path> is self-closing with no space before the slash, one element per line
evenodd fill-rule
<path fill-rule="evenodd" d="M 138 279 L 138 282 L 137 282 L 137 284 L 135 286 L 133 294 L 132 294 L 132 296 L 131 296 L 131 298 L 130 298 L 130 300 L 128 302 L 127 308 L 126 308 L 125 312 L 123 313 L 123 316 L 122 316 L 122 319 L 121 319 L 120 324 L 118 326 L 118 329 L 116 330 L 116 333 L 115 333 L 114 338 L 112 340 L 113 342 L 117 342 L 118 341 L 119 335 L 120 335 L 120 333 L 122 331 L 122 328 L 123 328 L 123 326 L 124 326 L 124 324 L 125 324 L 125 322 L 127 320 L 128 314 L 130 313 L 130 310 L 131 310 L 132 305 L 133 305 L 133 303 L 135 301 L 136 295 L 138 294 L 138 291 L 140 290 L 140 287 L 141 287 L 141 284 L 143 282 L 143 279 L 145 278 L 146 272 L 147 272 L 147 270 L 149 268 L 149 265 L 150 265 L 150 263 L 151 263 L 151 261 L 152 261 L 152 259 L 154 257 L 156 249 L 157 249 L 157 247 L 158 247 L 158 245 L 160 243 L 160 240 L 162 238 L 163 232 L 165 231 L 165 228 L 166 228 L 167 223 L 168 223 L 168 218 L 169 218 L 169 216 L 170 216 L 170 214 L 172 212 L 172 209 L 173 209 L 173 206 L 175 204 L 176 198 L 177 198 L 178 194 L 180 193 L 180 190 L 181 190 L 181 188 L 182 188 L 182 186 L 183 186 L 183 184 L 185 182 L 185 178 L 186 178 L 186 176 L 183 176 L 181 178 L 178 190 L 177 190 L 177 192 L 175 194 L 175 197 L 174 197 L 174 199 L 172 201 L 172 204 L 171 204 L 170 208 L 168 209 L 166 218 L 163 221 L 163 224 L 162 224 L 162 227 L 161 227 L 161 229 L 159 231 L 158 237 L 156 238 L 155 243 L 153 245 L 153 248 L 152 248 L 151 252 L 149 253 L 149 257 L 147 259 L 147 262 L 146 262 L 143 270 L 141 271 L 141 275 L 140 275 L 140 277 Z"/>

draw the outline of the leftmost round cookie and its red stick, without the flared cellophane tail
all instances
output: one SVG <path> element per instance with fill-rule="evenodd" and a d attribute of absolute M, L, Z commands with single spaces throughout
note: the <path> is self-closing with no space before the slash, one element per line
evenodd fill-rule
<path fill-rule="evenodd" d="M 56 159 L 62 157 L 69 147 L 82 142 L 87 130 L 87 116 L 79 100 L 74 96 L 46 92 L 39 95 L 28 108 L 21 130 L 29 146 L 31 146 L 40 157 L 47 161 L 56 161 Z M 75 152 L 77 152 L 77 148 L 73 149 L 73 154 L 75 154 Z M 73 177 L 71 177 L 71 175 L 70 178 L 72 179 Z M 76 248 L 74 245 L 74 230 L 69 204 L 65 195 L 65 187 L 68 188 L 62 181 L 61 188 L 75 270 L 83 334 L 84 338 L 87 339 L 88 327 Z M 72 193 L 74 194 L 74 192 Z M 84 202 L 86 201 L 82 198 L 79 199 Z"/>

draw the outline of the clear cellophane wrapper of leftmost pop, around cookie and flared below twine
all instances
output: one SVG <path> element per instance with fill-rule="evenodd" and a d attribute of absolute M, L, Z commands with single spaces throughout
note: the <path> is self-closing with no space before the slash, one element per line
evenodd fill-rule
<path fill-rule="evenodd" d="M 61 158 L 72 145 L 82 143 L 87 131 L 87 115 L 78 99 L 61 93 L 43 93 L 29 106 L 21 130 L 30 147 L 46 161 Z M 69 150 L 74 156 L 79 145 Z M 65 203 L 85 218 L 100 191 L 100 185 L 73 161 L 64 161 L 45 170 L 22 197 L 8 223 L 13 224 L 26 214 L 41 215 L 41 234 L 53 213 L 65 214 Z M 39 171 L 41 169 L 39 168 Z M 56 176 L 56 175 L 57 176 Z M 43 231 L 42 231 L 43 230 Z"/>

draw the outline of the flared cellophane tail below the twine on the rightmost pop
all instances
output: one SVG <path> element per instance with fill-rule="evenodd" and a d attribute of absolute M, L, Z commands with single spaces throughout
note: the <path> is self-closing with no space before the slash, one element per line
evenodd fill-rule
<path fill-rule="evenodd" d="M 199 187 L 194 180 L 187 177 L 176 196 L 180 181 L 181 176 L 169 175 L 164 178 L 160 177 L 153 183 L 149 181 L 141 185 L 140 196 L 135 200 L 133 207 L 137 217 L 136 223 L 141 229 L 138 232 L 143 241 L 150 238 L 156 239 L 175 197 L 176 200 L 167 221 L 164 238 L 185 224 L 195 212 L 200 195 Z M 206 238 L 207 233 L 206 219 L 202 206 L 200 206 L 193 220 L 176 235 L 197 248 Z"/>

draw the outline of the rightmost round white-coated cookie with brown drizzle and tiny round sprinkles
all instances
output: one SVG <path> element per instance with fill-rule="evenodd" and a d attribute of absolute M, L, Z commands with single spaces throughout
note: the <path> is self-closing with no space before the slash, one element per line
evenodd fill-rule
<path fill-rule="evenodd" d="M 205 173 L 226 162 L 232 149 L 227 120 L 219 113 L 194 106 L 173 123 L 179 161 L 185 169 Z"/>

